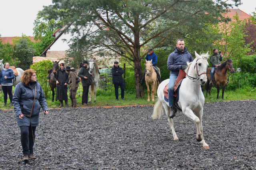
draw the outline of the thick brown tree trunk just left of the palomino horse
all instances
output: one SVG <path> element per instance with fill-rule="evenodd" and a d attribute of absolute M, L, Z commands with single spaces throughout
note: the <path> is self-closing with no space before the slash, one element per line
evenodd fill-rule
<path fill-rule="evenodd" d="M 144 97 L 144 89 L 143 86 L 138 84 L 138 82 L 141 80 L 141 65 L 140 65 L 140 32 L 138 30 L 138 18 L 135 18 L 135 29 L 134 29 L 134 43 L 136 44 L 134 46 L 134 76 L 135 76 L 135 88 L 136 88 L 136 98 Z"/>

